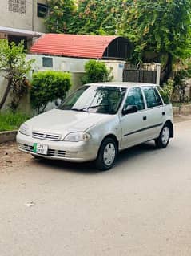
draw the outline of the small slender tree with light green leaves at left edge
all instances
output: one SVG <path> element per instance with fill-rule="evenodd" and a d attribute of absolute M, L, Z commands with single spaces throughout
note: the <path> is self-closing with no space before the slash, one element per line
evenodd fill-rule
<path fill-rule="evenodd" d="M 22 93 L 23 87 L 27 85 L 25 83 L 26 72 L 30 71 L 34 60 L 26 61 L 23 42 L 16 45 L 14 42 L 8 43 L 6 39 L 0 40 L 0 56 L 0 70 L 7 79 L 6 90 L 0 100 L 1 110 L 11 90 L 13 95 Z"/>

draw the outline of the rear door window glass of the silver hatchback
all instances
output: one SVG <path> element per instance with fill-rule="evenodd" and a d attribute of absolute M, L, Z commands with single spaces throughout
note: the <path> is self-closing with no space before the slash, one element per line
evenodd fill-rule
<path fill-rule="evenodd" d="M 156 88 L 143 87 L 147 108 L 154 108 L 162 105 L 161 97 Z"/>

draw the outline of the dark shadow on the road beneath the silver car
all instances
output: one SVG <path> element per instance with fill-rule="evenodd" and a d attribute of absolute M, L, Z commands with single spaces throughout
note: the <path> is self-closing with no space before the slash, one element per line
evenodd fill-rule
<path fill-rule="evenodd" d="M 113 167 L 112 171 L 116 168 L 120 168 L 120 165 L 124 164 L 125 161 L 134 160 L 137 157 L 141 157 L 142 155 L 148 153 L 149 151 L 156 150 L 153 142 L 148 142 L 144 144 L 139 144 L 134 146 L 133 148 L 128 148 L 119 153 L 117 156 L 116 165 Z M 74 172 L 74 173 L 82 173 L 82 174 L 96 174 L 96 173 L 105 173 L 97 170 L 95 168 L 94 161 L 85 162 L 85 163 L 72 163 L 68 161 L 57 161 L 57 160 L 47 160 L 41 159 L 37 160 L 38 164 L 44 165 L 45 167 L 56 168 L 60 171 L 66 172 Z M 110 170 L 111 171 L 111 170 Z"/>

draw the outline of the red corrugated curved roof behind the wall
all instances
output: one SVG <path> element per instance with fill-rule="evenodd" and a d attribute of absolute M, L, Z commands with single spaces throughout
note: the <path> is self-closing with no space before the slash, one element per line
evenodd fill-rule
<path fill-rule="evenodd" d="M 105 49 L 117 36 L 111 35 L 42 35 L 31 47 L 37 54 L 101 59 Z"/>

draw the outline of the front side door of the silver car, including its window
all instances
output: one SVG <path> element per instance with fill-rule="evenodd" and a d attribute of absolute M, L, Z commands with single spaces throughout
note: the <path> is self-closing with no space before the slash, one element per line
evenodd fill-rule
<path fill-rule="evenodd" d="M 127 115 L 122 115 L 121 113 L 121 148 L 129 148 L 145 141 L 145 128 L 148 124 L 145 101 L 140 87 L 132 87 L 129 89 L 123 109 L 126 109 L 130 105 L 136 105 L 137 112 Z"/>

